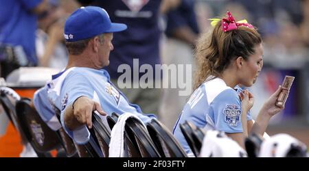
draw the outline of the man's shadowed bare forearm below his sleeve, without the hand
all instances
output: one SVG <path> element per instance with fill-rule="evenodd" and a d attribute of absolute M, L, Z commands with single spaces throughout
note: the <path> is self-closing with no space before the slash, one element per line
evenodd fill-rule
<path fill-rule="evenodd" d="M 63 117 L 63 120 L 65 121 L 65 126 L 68 129 L 74 130 L 83 125 L 75 118 L 72 105 L 67 106 L 67 109 L 65 109 L 65 115 Z"/>

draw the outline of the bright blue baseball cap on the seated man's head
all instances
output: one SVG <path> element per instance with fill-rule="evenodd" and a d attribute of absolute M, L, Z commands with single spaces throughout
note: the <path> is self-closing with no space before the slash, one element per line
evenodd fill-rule
<path fill-rule="evenodd" d="M 104 33 L 123 31 L 127 27 L 122 23 L 111 23 L 106 10 L 100 7 L 81 7 L 65 22 L 65 40 L 76 42 L 93 38 Z"/>

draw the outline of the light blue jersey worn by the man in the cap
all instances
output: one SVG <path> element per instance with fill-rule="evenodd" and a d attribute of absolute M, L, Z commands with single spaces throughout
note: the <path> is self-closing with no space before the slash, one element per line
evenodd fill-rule
<path fill-rule="evenodd" d="M 49 98 L 61 110 L 60 121 L 62 127 L 77 143 L 84 144 L 89 140 L 89 131 L 84 125 L 76 130 L 65 126 L 63 114 L 67 106 L 71 105 L 80 96 L 87 96 L 98 102 L 106 114 L 124 114 L 129 112 L 137 115 L 143 122 L 149 122 L 155 115 L 144 115 L 138 105 L 128 102 L 126 96 L 119 92 L 106 70 L 73 67 L 53 76 L 53 81 L 48 84 Z"/>

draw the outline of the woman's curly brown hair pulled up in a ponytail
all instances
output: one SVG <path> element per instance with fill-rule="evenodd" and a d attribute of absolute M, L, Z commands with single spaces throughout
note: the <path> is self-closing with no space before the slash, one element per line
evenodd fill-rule
<path fill-rule="evenodd" d="M 248 60 L 255 53 L 254 47 L 262 43 L 257 29 L 240 26 L 238 29 L 224 32 L 218 22 L 213 30 L 201 35 L 196 43 L 194 55 L 197 70 L 195 72 L 194 90 L 201 86 L 210 75 L 220 77 L 222 71 L 236 57 Z"/>

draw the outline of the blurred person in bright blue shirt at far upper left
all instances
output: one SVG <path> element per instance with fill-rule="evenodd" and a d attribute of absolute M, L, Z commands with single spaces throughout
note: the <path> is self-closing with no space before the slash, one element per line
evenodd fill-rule
<path fill-rule="evenodd" d="M 20 66 L 37 66 L 37 18 L 47 12 L 47 0 L 0 0 L 1 77 Z"/>

